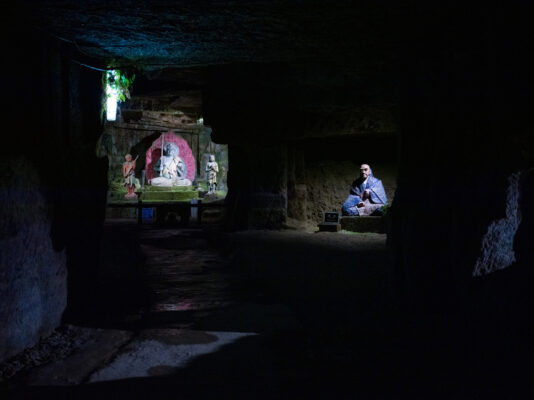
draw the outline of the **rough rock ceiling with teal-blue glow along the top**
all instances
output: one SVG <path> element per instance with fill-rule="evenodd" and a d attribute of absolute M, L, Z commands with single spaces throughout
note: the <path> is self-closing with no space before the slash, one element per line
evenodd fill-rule
<path fill-rule="evenodd" d="M 310 60 L 377 68 L 394 57 L 402 13 L 339 0 L 31 3 L 37 30 L 74 42 L 102 63 L 146 69 Z"/>

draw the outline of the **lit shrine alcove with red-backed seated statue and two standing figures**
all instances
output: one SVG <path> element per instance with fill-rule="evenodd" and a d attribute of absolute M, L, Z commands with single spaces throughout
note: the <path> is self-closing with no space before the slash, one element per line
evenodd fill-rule
<path fill-rule="evenodd" d="M 205 204 L 222 202 L 226 197 L 228 149 L 211 140 L 212 129 L 203 123 L 201 92 L 172 84 L 162 90 L 161 85 L 139 77 L 130 88 L 130 98 L 117 104 L 117 96 L 107 97 L 107 103 L 117 104 L 116 117 L 106 118 L 97 145 L 97 155 L 107 157 L 109 166 L 107 218 L 136 217 L 134 205 L 138 201 Z M 107 114 L 109 104 L 109 117 Z M 135 161 L 135 196 L 130 198 L 123 176 L 127 154 Z M 214 158 L 215 167 L 210 158 Z M 172 168 L 167 168 L 165 160 Z M 214 169 L 211 188 L 208 165 Z M 155 207 L 154 212 L 157 208 L 161 207 Z M 154 214 L 145 210 L 144 215 Z M 194 207 L 191 215 L 196 215 Z"/>

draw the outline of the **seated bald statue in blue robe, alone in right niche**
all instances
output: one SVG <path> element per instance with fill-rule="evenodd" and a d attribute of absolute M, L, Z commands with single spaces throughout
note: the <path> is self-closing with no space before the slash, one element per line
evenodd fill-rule
<path fill-rule="evenodd" d="M 382 181 L 373 176 L 371 167 L 362 164 L 360 177 L 352 183 L 349 197 L 343 204 L 343 215 L 382 215 L 388 199 Z"/>

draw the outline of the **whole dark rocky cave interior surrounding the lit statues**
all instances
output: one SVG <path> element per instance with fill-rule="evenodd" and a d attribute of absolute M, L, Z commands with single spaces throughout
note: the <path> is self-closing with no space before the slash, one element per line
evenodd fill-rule
<path fill-rule="evenodd" d="M 532 11 L 520 1 L 8 7 L 1 392 L 532 394 Z M 116 121 L 103 108 L 111 69 L 135 74 Z M 219 163 L 223 211 L 204 225 L 140 226 L 135 208 L 110 207 L 125 193 L 124 155 L 140 154 L 140 178 L 147 149 L 165 132 L 187 141 L 196 167 L 194 194 L 168 199 L 202 198 L 209 155 Z M 363 163 L 389 199 L 384 231 L 314 232 L 323 212 L 340 210 Z M 174 272 L 162 264 L 159 280 L 157 249 L 174 254 L 169 262 L 181 257 Z M 222 281 L 233 323 L 221 316 L 226 300 L 215 305 Z M 188 284 L 205 309 L 184 302 Z M 182 300 L 169 308 L 161 288 Z M 92 375 L 69 378 L 76 384 L 55 384 L 46 378 L 61 375 L 50 372 L 59 368 L 53 359 L 9 372 L 54 335 L 77 332 L 82 342 L 89 333 L 75 327 L 111 329 L 120 344 L 115 353 L 101 344 L 108 358 L 147 337 L 220 345 L 181 369 L 162 359 L 143 378 L 104 379 L 95 364 Z M 71 350 L 70 371 L 83 370 L 87 360 Z"/>

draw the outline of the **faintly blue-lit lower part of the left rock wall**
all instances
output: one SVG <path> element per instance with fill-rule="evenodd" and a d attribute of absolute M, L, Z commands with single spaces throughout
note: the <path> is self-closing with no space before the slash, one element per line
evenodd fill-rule
<path fill-rule="evenodd" d="M 52 221 L 34 164 L 0 161 L 0 361 L 37 343 L 67 305 L 67 257 L 54 249 Z"/>

